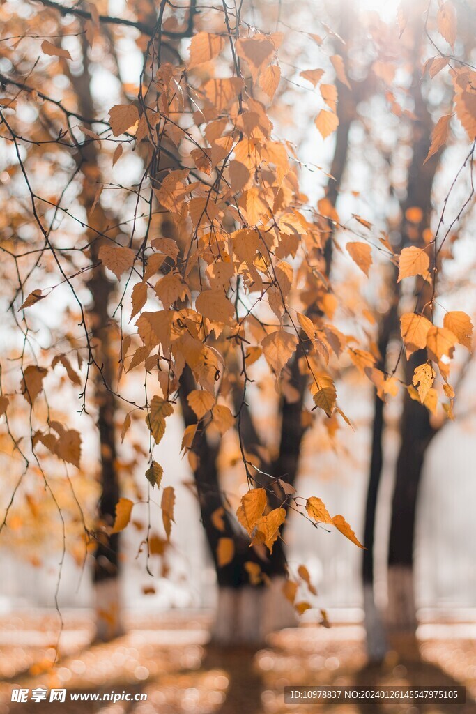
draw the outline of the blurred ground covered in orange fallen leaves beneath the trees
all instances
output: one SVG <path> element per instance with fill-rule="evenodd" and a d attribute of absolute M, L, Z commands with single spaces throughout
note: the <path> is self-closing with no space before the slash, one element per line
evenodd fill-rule
<path fill-rule="evenodd" d="M 420 628 L 420 658 L 391 653 L 368 665 L 359 623 L 283 630 L 265 648 L 223 649 L 208 643 L 206 613 L 129 616 L 127 634 L 89 645 L 88 613 L 66 613 L 55 666 L 56 613 L 0 619 L 0 714 L 476 714 L 475 625 Z M 285 705 L 286 685 L 465 685 L 465 705 Z M 13 688 L 66 688 L 71 693 L 146 693 L 146 701 L 11 703 Z"/>

